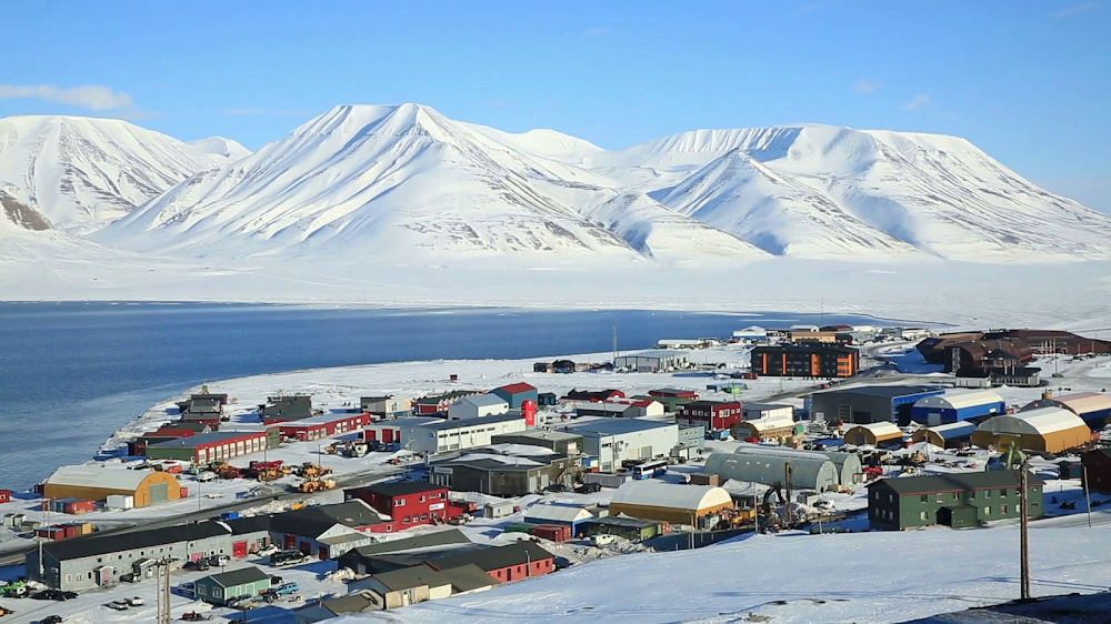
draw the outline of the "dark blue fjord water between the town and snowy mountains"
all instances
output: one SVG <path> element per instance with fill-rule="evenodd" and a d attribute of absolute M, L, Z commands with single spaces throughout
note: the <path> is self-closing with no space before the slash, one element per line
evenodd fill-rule
<path fill-rule="evenodd" d="M 278 305 L 0 303 L 0 489 L 96 454 L 190 386 L 300 369 L 622 350 L 751 324 L 859 316 L 638 311 L 366 310 Z"/>

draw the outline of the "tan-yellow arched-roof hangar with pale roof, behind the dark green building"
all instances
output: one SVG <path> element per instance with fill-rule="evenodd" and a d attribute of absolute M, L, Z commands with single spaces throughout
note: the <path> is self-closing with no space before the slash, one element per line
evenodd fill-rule
<path fill-rule="evenodd" d="M 1015 414 L 1000 414 L 980 423 L 972 444 L 1003 450 L 1018 443 L 1020 450 L 1060 453 L 1092 440 L 1092 430 L 1080 416 L 1060 407 L 1038 407 Z"/>

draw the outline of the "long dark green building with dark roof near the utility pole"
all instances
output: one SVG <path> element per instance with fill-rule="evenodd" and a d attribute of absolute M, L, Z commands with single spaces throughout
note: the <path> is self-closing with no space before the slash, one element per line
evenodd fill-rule
<path fill-rule="evenodd" d="M 1019 480 L 1008 470 L 883 479 L 868 486 L 868 520 L 873 529 L 902 530 L 1019 517 Z M 1030 474 L 1030 517 L 1043 513 L 1043 484 Z"/>

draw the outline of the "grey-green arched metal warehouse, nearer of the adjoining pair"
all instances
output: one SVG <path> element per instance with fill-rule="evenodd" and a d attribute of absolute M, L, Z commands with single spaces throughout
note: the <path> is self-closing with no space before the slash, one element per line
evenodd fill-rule
<path fill-rule="evenodd" d="M 711 453 L 702 472 L 723 480 L 747 481 L 764 485 L 787 484 L 787 464 L 791 464 L 791 487 L 824 492 L 838 484 L 837 465 L 824 455 L 788 456 L 759 451 Z"/>

